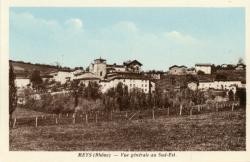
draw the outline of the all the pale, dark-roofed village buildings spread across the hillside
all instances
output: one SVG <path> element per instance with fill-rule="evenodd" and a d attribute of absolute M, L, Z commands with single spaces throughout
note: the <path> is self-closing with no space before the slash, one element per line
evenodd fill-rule
<path fill-rule="evenodd" d="M 222 68 L 227 68 L 231 65 L 223 64 Z M 204 75 L 212 76 L 214 65 L 212 64 L 195 64 L 194 68 L 188 68 L 184 65 L 174 65 L 169 68 L 166 73 L 163 72 L 142 72 L 142 63 L 137 60 L 129 60 L 123 62 L 123 64 L 108 64 L 103 58 L 95 59 L 90 65 L 89 70 L 83 69 L 76 70 L 57 70 L 42 75 L 42 79 L 49 81 L 60 82 L 65 84 L 67 82 L 78 80 L 80 83 L 87 86 L 91 82 L 96 82 L 100 85 L 101 91 L 107 92 L 110 88 L 114 88 L 118 83 L 122 83 L 128 87 L 131 91 L 134 88 L 140 89 L 145 93 L 155 91 L 156 81 L 160 80 L 162 76 L 182 76 L 193 75 L 198 76 L 199 72 Z M 14 67 L 15 68 L 15 67 Z M 244 71 L 245 65 L 238 64 L 233 66 L 236 71 Z M 245 87 L 245 83 L 240 80 L 216 80 L 216 79 L 199 79 L 197 81 L 191 81 L 187 83 L 187 87 L 192 90 L 207 90 L 207 89 L 219 89 L 219 90 L 233 90 L 236 92 L 237 87 Z M 171 81 L 172 82 L 172 81 Z M 25 88 L 30 84 L 30 79 L 27 76 L 21 76 L 16 78 L 16 85 L 18 88 Z"/>

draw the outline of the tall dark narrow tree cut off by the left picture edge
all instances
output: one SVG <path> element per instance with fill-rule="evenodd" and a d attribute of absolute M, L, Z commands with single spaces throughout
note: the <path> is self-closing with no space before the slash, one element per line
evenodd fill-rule
<path fill-rule="evenodd" d="M 12 119 L 12 113 L 17 107 L 17 88 L 15 85 L 15 74 L 13 66 L 10 64 L 9 67 L 9 119 Z"/>

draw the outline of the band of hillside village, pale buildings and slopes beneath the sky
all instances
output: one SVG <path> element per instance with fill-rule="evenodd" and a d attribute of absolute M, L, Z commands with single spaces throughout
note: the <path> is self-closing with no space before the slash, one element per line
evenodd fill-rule
<path fill-rule="evenodd" d="M 72 81 L 78 81 L 79 84 L 88 86 L 89 83 L 97 83 L 102 93 L 107 92 L 111 88 L 115 88 L 118 83 L 122 83 L 128 87 L 128 90 L 140 89 L 142 92 L 149 94 L 156 90 L 165 93 L 170 90 L 181 90 L 188 88 L 192 91 L 213 90 L 217 92 L 232 91 L 234 94 L 237 88 L 245 88 L 246 86 L 246 65 L 239 63 L 236 65 L 223 64 L 195 64 L 194 67 L 186 67 L 184 65 L 173 65 L 165 72 L 163 71 L 143 71 L 143 64 L 138 60 L 129 60 L 123 64 L 108 64 L 103 58 L 95 59 L 84 70 L 83 68 L 58 68 L 48 66 L 40 70 L 33 68 L 26 69 L 25 65 L 18 62 L 10 61 L 14 67 L 16 74 L 15 83 L 19 94 L 23 90 L 32 89 L 31 73 L 39 71 L 39 75 L 45 83 L 46 92 L 65 93 L 67 85 Z M 32 71 L 33 70 L 33 71 Z M 230 74 L 230 75 L 229 75 Z M 57 87 L 57 88 L 55 88 Z M 37 92 L 39 94 L 39 92 Z M 23 102 L 23 98 L 19 97 L 19 103 Z"/>

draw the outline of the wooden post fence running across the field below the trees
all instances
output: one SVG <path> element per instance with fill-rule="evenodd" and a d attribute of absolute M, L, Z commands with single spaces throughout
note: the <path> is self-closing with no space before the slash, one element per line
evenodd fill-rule
<path fill-rule="evenodd" d="M 105 112 L 90 111 L 85 113 L 73 114 L 48 114 L 36 117 L 14 118 L 10 123 L 11 128 L 23 126 L 46 126 L 46 125 L 66 125 L 66 124 L 88 124 L 109 121 L 126 121 L 137 119 L 156 119 L 160 116 L 181 116 L 196 115 L 208 112 L 234 111 L 239 108 L 239 102 L 218 102 L 213 104 L 195 105 L 190 107 L 175 108 L 153 108 L 146 110 Z"/>

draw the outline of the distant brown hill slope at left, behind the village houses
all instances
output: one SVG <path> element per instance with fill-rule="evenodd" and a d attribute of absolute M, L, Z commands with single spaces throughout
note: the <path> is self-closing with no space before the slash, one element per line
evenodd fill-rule
<path fill-rule="evenodd" d="M 14 73 L 17 77 L 29 77 L 34 70 L 39 70 L 41 75 L 46 75 L 52 71 L 57 71 L 59 69 L 70 69 L 68 67 L 58 67 L 54 65 L 46 65 L 46 64 L 33 64 L 30 62 L 23 61 L 9 61 L 14 68 Z"/>

